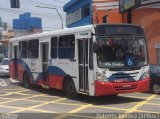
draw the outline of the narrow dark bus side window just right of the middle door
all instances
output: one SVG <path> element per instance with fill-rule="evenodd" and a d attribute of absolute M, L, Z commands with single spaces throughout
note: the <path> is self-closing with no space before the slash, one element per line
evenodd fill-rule
<path fill-rule="evenodd" d="M 58 38 L 52 37 L 51 38 L 51 58 L 53 59 L 57 58 L 57 43 L 58 43 Z"/>

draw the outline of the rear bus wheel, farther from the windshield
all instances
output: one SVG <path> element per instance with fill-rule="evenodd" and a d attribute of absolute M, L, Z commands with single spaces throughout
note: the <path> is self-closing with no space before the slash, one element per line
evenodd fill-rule
<path fill-rule="evenodd" d="M 26 72 L 24 73 L 24 76 L 23 76 L 23 86 L 28 89 L 31 88 L 30 78 L 28 73 Z"/>

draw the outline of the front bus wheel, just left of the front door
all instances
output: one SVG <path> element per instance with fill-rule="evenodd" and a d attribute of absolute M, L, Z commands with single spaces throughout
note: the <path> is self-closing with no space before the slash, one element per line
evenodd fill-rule
<path fill-rule="evenodd" d="M 77 91 L 74 85 L 72 78 L 67 78 L 64 81 L 64 92 L 68 98 L 75 99 L 77 98 Z"/>

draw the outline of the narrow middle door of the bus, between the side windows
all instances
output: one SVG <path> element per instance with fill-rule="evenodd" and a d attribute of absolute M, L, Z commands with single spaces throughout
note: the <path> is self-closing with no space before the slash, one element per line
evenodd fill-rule
<path fill-rule="evenodd" d="M 48 70 L 48 54 L 49 54 L 49 45 L 47 42 L 42 43 L 42 71 L 44 79 L 47 79 L 47 70 Z"/>

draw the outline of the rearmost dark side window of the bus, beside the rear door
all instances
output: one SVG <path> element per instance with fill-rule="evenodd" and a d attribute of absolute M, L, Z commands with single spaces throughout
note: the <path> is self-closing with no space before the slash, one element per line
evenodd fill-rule
<path fill-rule="evenodd" d="M 19 51 L 20 51 L 21 58 L 24 58 L 24 59 L 27 58 L 27 48 L 28 48 L 27 41 L 19 42 Z"/>

